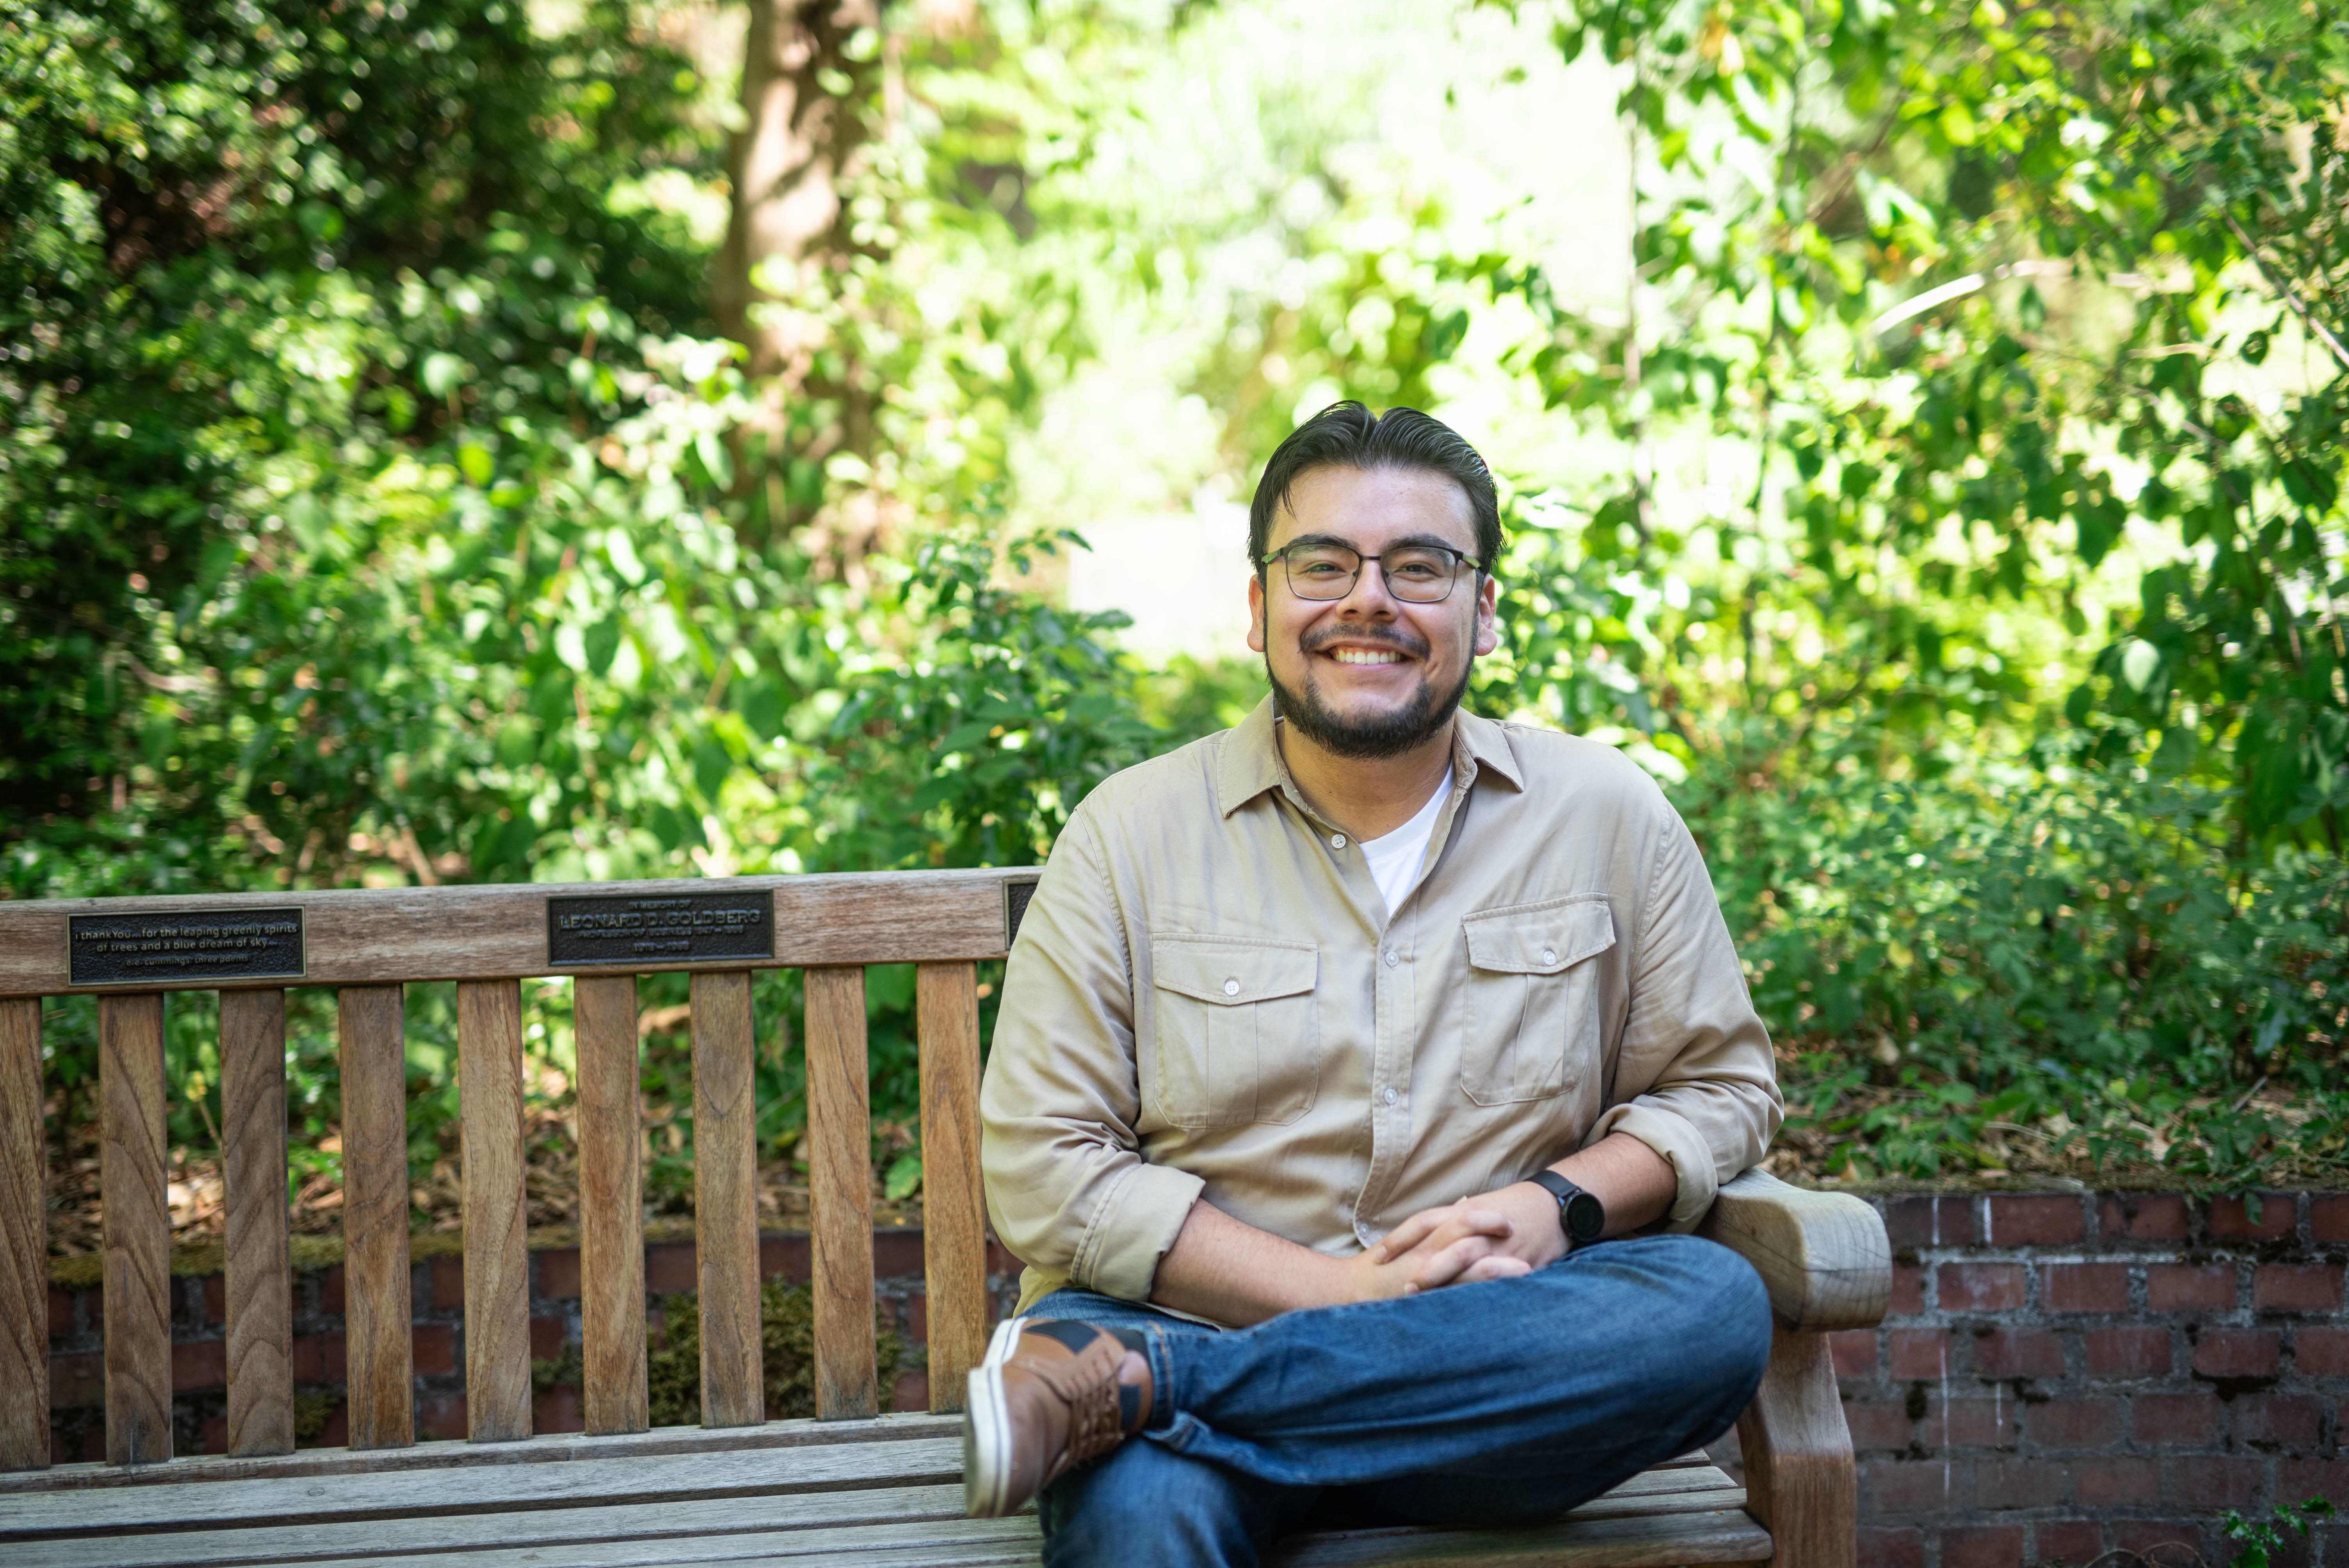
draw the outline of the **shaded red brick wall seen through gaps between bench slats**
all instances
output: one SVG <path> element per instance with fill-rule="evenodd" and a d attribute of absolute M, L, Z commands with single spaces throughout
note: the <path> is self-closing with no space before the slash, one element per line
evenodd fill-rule
<path fill-rule="evenodd" d="M 759 1237 L 759 1270 L 768 1279 L 808 1279 L 808 1237 Z M 907 1347 L 928 1343 L 923 1312 L 921 1232 L 874 1232 L 874 1291 L 895 1317 Z M 989 1286 L 998 1312 L 1017 1296 L 1019 1265 L 1001 1246 L 989 1246 Z M 693 1242 L 651 1242 L 644 1249 L 644 1284 L 658 1312 L 660 1296 L 695 1289 Z M 416 1437 L 465 1437 L 465 1261 L 418 1258 L 409 1277 L 411 1345 L 416 1361 Z M 106 1458 L 106 1357 L 103 1300 L 99 1289 L 49 1286 L 49 1453 L 68 1460 Z M 221 1275 L 171 1279 L 171 1415 L 176 1453 L 223 1453 L 228 1448 L 228 1343 Z M 531 1354 L 554 1359 L 580 1338 L 580 1256 L 576 1246 L 531 1251 Z M 883 1390 L 881 1408 L 923 1411 L 930 1404 L 921 1357 Z M 341 1265 L 294 1275 L 294 1394 L 298 1411 L 324 1418 L 308 1444 L 345 1441 L 343 1408 L 343 1270 Z M 536 1397 L 538 1432 L 578 1432 L 578 1390 L 557 1387 Z"/>

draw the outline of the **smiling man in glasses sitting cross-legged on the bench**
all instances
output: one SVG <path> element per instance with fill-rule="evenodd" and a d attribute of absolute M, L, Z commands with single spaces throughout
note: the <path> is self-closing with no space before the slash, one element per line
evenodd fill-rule
<path fill-rule="evenodd" d="M 1273 695 L 1052 847 L 980 1101 L 1022 1317 L 963 1427 L 1048 1563 L 1548 1519 L 1762 1380 L 1759 1277 L 1684 1232 L 1778 1129 L 1771 1045 L 1656 784 L 1456 711 L 1499 549 L 1459 434 L 1318 413 L 1250 509 Z"/>

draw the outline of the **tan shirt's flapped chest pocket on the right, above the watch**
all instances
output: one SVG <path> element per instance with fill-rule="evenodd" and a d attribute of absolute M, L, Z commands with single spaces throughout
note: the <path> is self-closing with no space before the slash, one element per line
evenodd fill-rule
<path fill-rule="evenodd" d="M 1595 960 L 1614 946 L 1607 894 L 1489 908 L 1461 927 L 1461 1091 L 1478 1106 L 1555 1099 L 1597 1061 Z"/>

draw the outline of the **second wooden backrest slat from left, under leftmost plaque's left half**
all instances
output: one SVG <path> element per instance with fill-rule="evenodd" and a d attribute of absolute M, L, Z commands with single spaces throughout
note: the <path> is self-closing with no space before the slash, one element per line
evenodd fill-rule
<path fill-rule="evenodd" d="M 106 1249 L 106 1462 L 171 1458 L 171 1211 L 164 1207 L 162 993 L 99 1000 Z"/>

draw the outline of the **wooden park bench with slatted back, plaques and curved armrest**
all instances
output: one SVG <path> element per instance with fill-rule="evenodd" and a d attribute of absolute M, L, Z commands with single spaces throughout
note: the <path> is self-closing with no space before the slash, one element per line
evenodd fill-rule
<path fill-rule="evenodd" d="M 963 1519 L 958 1418 L 989 1333 L 980 1005 L 1034 871 L 773 876 L 0 904 L 0 1561 L 1034 1563 L 1034 1514 Z M 879 1413 L 864 965 L 918 965 L 930 1411 Z M 813 1420 L 766 1420 L 752 1103 L 759 967 L 806 969 Z M 693 974 L 700 1427 L 648 1427 L 637 974 Z M 576 976 L 585 1434 L 531 1432 L 519 976 Z M 418 1444 L 402 986 L 456 981 L 470 1441 Z M 294 1446 L 284 988 L 338 991 L 348 1448 Z M 228 1453 L 171 1455 L 162 995 L 221 993 Z M 49 1465 L 42 1000 L 99 995 L 106 1462 Z M 1708 1235 L 1781 1329 L 1741 1422 L 1525 1530 L 1355 1530 L 1337 1563 L 1853 1561 L 1825 1331 L 1875 1324 L 1891 1263 L 1853 1197 L 1748 1174 Z"/>

